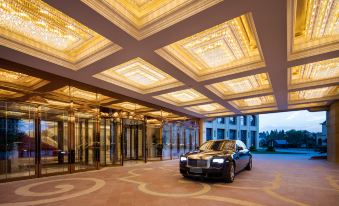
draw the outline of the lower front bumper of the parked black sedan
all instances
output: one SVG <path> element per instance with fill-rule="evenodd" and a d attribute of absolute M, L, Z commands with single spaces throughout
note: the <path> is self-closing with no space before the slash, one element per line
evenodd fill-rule
<path fill-rule="evenodd" d="M 223 178 L 225 177 L 227 165 L 221 168 L 201 168 L 201 173 L 191 171 L 191 167 L 180 165 L 180 173 L 184 176 L 205 177 L 205 178 Z"/>

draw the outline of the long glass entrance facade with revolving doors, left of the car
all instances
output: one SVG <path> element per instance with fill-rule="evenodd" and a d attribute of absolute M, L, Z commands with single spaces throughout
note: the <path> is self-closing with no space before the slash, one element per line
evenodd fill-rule
<path fill-rule="evenodd" d="M 193 121 L 151 124 L 101 107 L 45 105 L 0 101 L 1 182 L 174 159 L 199 145 Z"/>

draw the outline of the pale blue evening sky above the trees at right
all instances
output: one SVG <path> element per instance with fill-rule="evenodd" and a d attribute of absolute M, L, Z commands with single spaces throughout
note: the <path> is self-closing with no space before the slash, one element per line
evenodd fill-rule
<path fill-rule="evenodd" d="M 295 129 L 321 132 L 320 123 L 325 120 L 326 112 L 309 112 L 307 110 L 260 114 L 259 131 Z"/>

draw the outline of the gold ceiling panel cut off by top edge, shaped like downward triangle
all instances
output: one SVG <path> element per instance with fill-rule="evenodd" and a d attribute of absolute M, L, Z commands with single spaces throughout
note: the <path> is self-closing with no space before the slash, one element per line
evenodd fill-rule
<path fill-rule="evenodd" d="M 112 23 L 141 40 L 222 0 L 82 0 Z"/>

